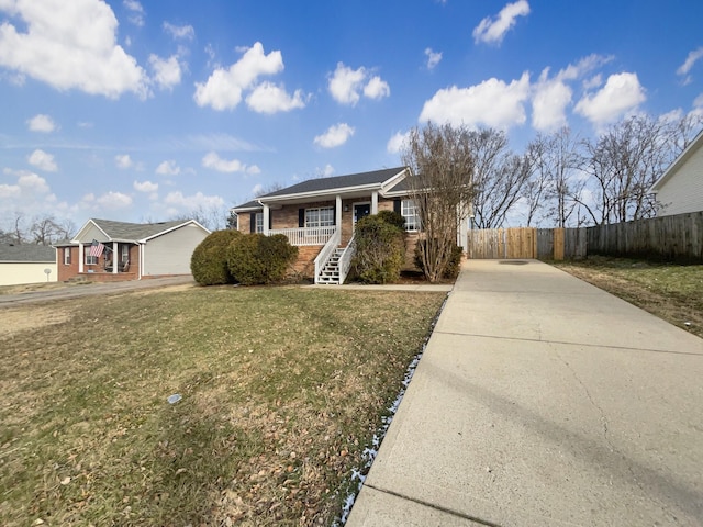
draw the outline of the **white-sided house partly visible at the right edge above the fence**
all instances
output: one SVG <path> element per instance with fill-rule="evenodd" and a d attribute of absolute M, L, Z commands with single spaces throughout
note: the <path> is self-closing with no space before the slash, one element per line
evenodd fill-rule
<path fill-rule="evenodd" d="M 658 216 L 703 211 L 703 132 L 649 189 L 659 208 Z"/>

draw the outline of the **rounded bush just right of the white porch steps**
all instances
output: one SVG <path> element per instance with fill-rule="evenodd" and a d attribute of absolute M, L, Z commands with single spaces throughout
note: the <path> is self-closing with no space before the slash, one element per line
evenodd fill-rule
<path fill-rule="evenodd" d="M 365 283 L 397 282 L 405 260 L 405 232 L 380 215 L 362 217 L 355 228 L 356 277 Z"/>

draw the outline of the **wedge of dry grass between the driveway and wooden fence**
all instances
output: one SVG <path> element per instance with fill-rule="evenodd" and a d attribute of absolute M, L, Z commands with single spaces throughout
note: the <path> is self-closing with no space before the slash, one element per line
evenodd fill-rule
<path fill-rule="evenodd" d="M 599 256 L 551 264 L 703 337 L 703 265 Z"/>

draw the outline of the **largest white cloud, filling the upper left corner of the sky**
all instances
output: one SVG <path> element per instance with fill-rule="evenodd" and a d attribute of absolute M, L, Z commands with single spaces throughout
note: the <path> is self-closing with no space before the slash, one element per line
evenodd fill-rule
<path fill-rule="evenodd" d="M 145 71 L 115 44 L 118 19 L 107 3 L 0 1 L 0 11 L 22 20 L 0 25 L 0 66 L 58 90 L 111 99 L 124 92 L 148 96 Z"/>

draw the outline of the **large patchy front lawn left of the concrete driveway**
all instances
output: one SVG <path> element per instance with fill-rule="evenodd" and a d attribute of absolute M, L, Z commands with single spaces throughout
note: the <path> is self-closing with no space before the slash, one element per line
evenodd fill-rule
<path fill-rule="evenodd" d="M 444 296 L 226 287 L 0 311 L 0 525 L 328 525 Z"/>

